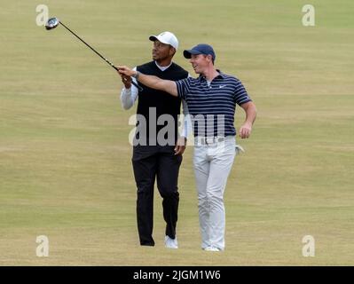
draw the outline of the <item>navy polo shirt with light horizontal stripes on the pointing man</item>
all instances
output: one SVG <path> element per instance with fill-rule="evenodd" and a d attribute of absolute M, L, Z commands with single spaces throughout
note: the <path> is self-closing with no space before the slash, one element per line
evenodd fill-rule
<path fill-rule="evenodd" d="M 208 85 L 204 76 L 176 81 L 178 97 L 185 99 L 193 123 L 194 136 L 236 135 L 233 125 L 236 104 L 251 101 L 239 79 L 219 70 Z"/>

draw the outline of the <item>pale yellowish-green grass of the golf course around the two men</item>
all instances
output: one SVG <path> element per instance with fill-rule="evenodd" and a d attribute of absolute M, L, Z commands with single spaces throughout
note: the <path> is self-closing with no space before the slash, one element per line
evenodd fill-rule
<path fill-rule="evenodd" d="M 180 248 L 138 246 L 136 185 L 118 76 L 64 28 L 35 25 L 36 1 L 0 0 L 0 265 L 352 265 L 354 20 L 351 0 L 43 1 L 115 64 L 150 59 L 162 30 L 182 50 L 212 43 L 258 117 L 225 193 L 226 250 L 201 251 L 190 146 L 179 178 Z M 236 126 L 243 113 L 238 109 Z M 35 256 L 47 235 L 50 256 Z M 311 234 L 316 256 L 303 257 Z"/>

